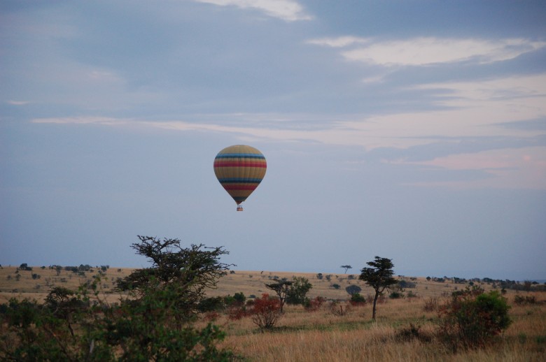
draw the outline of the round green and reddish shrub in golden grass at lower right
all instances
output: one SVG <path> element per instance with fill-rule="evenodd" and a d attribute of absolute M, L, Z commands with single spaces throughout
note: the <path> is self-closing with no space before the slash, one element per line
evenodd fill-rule
<path fill-rule="evenodd" d="M 479 287 L 456 291 L 440 307 L 440 336 L 451 347 L 482 347 L 510 325 L 506 299 Z"/>

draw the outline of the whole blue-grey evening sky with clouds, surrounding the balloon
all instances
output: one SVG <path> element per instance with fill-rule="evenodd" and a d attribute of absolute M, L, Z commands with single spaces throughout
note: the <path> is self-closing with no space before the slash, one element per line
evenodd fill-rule
<path fill-rule="evenodd" d="M 229 145 L 267 174 L 243 204 Z M 0 264 L 546 279 L 543 1 L 1 1 Z"/>

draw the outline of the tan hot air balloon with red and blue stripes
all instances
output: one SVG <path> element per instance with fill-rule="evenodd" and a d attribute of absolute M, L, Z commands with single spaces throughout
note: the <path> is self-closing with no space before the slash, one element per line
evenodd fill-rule
<path fill-rule="evenodd" d="M 225 147 L 214 159 L 216 178 L 237 203 L 237 211 L 243 210 L 241 203 L 262 182 L 266 168 L 262 152 L 246 145 Z"/>

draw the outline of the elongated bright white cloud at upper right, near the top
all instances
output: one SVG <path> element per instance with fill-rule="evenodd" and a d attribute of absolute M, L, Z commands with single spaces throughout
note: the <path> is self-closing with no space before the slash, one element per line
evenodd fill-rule
<path fill-rule="evenodd" d="M 426 66 L 459 61 L 489 64 L 514 59 L 546 46 L 546 42 L 524 38 L 485 40 L 419 37 L 400 41 L 372 41 L 370 38 L 342 36 L 313 39 L 308 43 L 343 48 L 341 55 L 347 60 L 381 66 Z M 353 48 L 345 50 L 349 46 Z"/>

